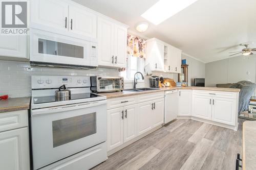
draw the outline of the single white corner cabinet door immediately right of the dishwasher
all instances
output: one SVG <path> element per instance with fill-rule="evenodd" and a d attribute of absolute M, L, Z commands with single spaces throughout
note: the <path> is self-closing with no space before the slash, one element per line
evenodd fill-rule
<path fill-rule="evenodd" d="M 191 116 L 192 90 L 179 90 L 179 116 Z"/>

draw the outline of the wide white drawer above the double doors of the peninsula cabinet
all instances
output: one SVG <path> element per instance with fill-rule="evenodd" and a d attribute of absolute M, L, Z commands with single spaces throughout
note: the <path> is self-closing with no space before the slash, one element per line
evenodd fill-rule
<path fill-rule="evenodd" d="M 218 98 L 237 99 L 237 92 L 193 90 L 195 95 L 214 96 Z"/>

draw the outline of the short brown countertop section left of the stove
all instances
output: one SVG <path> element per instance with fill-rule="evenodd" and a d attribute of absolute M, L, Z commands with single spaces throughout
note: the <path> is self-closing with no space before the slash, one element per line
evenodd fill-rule
<path fill-rule="evenodd" d="M 0 100 L 0 113 L 17 110 L 28 110 L 30 108 L 30 97 L 26 98 L 9 98 Z"/>

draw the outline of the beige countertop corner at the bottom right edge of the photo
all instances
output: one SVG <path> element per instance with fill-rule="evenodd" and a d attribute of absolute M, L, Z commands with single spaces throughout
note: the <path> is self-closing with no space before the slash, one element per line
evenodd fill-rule
<path fill-rule="evenodd" d="M 243 124 L 243 170 L 256 169 L 256 121 Z"/>

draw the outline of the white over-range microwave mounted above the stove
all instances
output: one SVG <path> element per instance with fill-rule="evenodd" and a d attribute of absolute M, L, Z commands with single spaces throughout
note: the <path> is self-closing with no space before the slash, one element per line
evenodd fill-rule
<path fill-rule="evenodd" d="M 97 39 L 79 39 L 30 29 L 30 63 L 34 66 L 95 68 L 98 66 Z"/>

